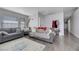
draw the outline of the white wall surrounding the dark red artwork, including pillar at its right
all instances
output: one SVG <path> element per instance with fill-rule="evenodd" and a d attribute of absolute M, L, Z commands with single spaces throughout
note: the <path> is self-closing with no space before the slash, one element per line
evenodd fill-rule
<path fill-rule="evenodd" d="M 53 20 L 59 21 L 59 29 L 60 29 L 59 35 L 60 36 L 64 35 L 64 14 L 63 12 L 45 16 L 45 19 L 41 20 L 42 26 L 51 28 Z"/>

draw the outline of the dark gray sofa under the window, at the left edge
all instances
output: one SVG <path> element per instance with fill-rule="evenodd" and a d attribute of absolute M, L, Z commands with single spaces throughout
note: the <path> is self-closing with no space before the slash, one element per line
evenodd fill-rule
<path fill-rule="evenodd" d="M 4 28 L 0 29 L 0 31 L 5 31 L 8 33 L 8 34 L 0 33 L 0 43 L 24 36 L 24 32 L 23 31 L 17 32 L 16 28 Z"/>

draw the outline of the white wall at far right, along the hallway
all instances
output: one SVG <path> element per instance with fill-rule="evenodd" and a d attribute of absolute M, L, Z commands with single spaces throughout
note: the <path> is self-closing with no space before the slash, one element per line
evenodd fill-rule
<path fill-rule="evenodd" d="M 79 38 L 79 8 L 72 15 L 70 31 Z"/>

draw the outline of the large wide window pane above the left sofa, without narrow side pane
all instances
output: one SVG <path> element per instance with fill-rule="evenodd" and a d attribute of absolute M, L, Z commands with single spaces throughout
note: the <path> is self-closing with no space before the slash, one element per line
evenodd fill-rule
<path fill-rule="evenodd" d="M 17 28 L 18 27 L 18 21 L 16 17 L 12 16 L 4 16 L 2 21 L 2 27 L 3 28 Z"/>

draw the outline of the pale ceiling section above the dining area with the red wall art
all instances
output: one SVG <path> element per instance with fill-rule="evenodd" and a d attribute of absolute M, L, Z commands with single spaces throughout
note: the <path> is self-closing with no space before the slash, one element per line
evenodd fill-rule
<path fill-rule="evenodd" d="M 52 13 L 57 13 L 62 11 L 62 8 L 57 8 L 57 7 L 41 7 L 38 8 L 38 11 L 42 13 L 43 15 L 48 15 Z"/>

